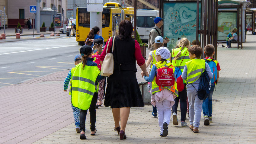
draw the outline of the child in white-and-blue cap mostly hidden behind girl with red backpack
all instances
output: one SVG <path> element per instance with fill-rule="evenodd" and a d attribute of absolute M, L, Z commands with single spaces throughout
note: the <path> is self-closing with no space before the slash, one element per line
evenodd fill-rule
<path fill-rule="evenodd" d="M 153 51 L 150 51 L 149 52 L 149 59 L 147 60 L 146 62 L 146 68 L 149 66 L 150 64 L 150 69 L 152 68 L 152 66 L 158 62 L 158 60 L 156 59 L 156 55 L 155 55 L 155 51 L 159 48 L 159 47 L 162 47 L 164 46 L 164 40 L 163 40 L 163 37 L 161 36 L 157 36 L 155 37 L 155 43 L 154 43 L 154 47 L 155 47 L 155 50 Z M 150 71 L 149 71 L 150 72 Z M 144 76 L 144 73 L 141 72 L 141 75 L 142 77 Z M 151 87 L 152 87 L 152 82 L 148 83 L 148 89 L 149 91 L 151 90 Z M 152 116 L 153 117 L 157 117 L 157 109 L 156 107 L 153 107 L 153 112 L 152 112 Z"/>

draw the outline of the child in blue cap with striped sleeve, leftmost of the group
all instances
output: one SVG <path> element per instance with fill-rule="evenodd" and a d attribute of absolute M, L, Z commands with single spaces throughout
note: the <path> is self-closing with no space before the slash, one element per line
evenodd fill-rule
<path fill-rule="evenodd" d="M 80 54 L 75 56 L 75 65 L 78 65 L 80 62 L 82 62 L 82 57 Z M 67 91 L 68 86 L 69 86 L 69 81 L 72 82 L 72 76 L 75 72 L 75 68 L 72 68 L 69 71 L 68 76 L 66 77 L 65 81 L 64 81 L 64 91 Z M 70 88 L 69 88 L 69 95 L 71 95 L 71 82 L 70 82 Z M 74 107 L 73 104 L 71 104 L 71 107 L 73 109 L 73 116 L 75 119 L 75 130 L 77 133 L 80 133 L 80 121 L 79 121 L 79 117 L 80 117 L 80 109 L 78 109 L 77 107 Z"/>

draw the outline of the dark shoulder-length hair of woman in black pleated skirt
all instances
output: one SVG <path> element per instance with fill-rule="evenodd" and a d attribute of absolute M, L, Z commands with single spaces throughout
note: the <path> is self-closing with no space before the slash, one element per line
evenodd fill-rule
<path fill-rule="evenodd" d="M 118 27 L 117 37 L 119 37 L 120 40 L 130 40 L 132 39 L 132 34 L 133 24 L 128 20 L 121 21 Z"/>

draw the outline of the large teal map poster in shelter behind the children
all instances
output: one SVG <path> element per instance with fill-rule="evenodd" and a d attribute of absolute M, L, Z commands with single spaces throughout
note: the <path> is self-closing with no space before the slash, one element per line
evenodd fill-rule
<path fill-rule="evenodd" d="M 170 39 L 167 43 L 169 50 L 175 48 L 179 38 L 186 37 L 191 43 L 196 40 L 196 2 L 166 2 L 163 5 L 164 37 Z M 201 5 L 199 6 L 201 13 Z M 201 14 L 199 14 L 200 16 Z M 199 17 L 199 24 L 200 24 Z M 200 29 L 200 28 L 199 28 Z M 200 38 L 199 38 L 200 40 Z"/>

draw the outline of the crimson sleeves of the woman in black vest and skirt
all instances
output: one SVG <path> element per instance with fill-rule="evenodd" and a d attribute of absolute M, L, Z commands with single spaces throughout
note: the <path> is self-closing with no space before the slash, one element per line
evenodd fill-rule
<path fill-rule="evenodd" d="M 108 43 L 108 41 L 109 41 L 109 39 L 107 40 L 107 43 Z M 107 43 L 105 44 L 105 48 L 104 48 L 104 50 L 103 50 L 103 52 L 101 53 L 101 56 L 100 56 L 100 60 L 102 62 L 103 62 L 103 60 L 104 60 L 104 58 L 106 56 Z M 110 40 L 107 53 L 110 53 L 110 48 L 112 46 L 112 43 L 113 43 L 113 39 Z M 137 42 L 137 40 L 135 40 L 134 47 L 135 47 L 134 56 L 135 56 L 135 59 L 137 61 L 137 64 L 139 66 L 142 66 L 145 63 L 145 59 L 142 57 L 142 54 L 141 54 L 141 51 L 140 51 L 140 46 L 139 46 L 139 43 Z"/>

